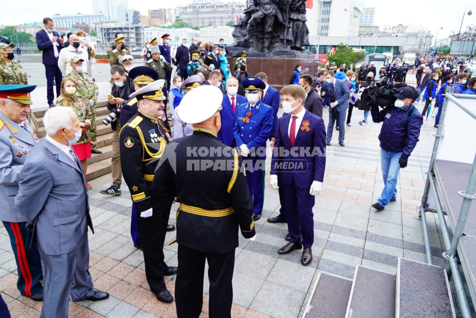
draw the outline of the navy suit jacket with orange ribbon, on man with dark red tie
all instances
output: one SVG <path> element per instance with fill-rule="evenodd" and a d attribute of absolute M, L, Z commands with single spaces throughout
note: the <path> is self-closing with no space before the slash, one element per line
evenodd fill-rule
<path fill-rule="evenodd" d="M 326 169 L 326 126 L 324 125 L 324 119 L 306 110 L 302 122 L 304 122 L 304 120 L 309 121 L 308 127 L 310 130 L 301 130 L 300 128 L 303 127 L 301 122 L 301 126 L 296 127 L 296 129 L 298 129 L 297 136 L 294 141 L 294 146 L 291 147 L 288 135 L 289 120 L 291 120 L 290 114 L 279 118 L 275 135 L 273 159 L 271 161 L 271 174 L 279 173 L 280 180 L 286 185 L 291 184 L 293 179 L 295 179 L 299 189 L 306 189 L 308 191 L 312 181 L 322 182 L 324 180 L 324 171 Z M 306 147 L 310 147 L 308 152 L 303 151 L 301 153 L 300 149 L 305 149 Z M 291 148 L 297 149 L 297 151 L 293 151 L 296 156 L 291 154 Z M 279 151 L 279 149 L 286 149 L 288 151 Z M 314 152 L 317 149 L 320 151 Z M 287 156 L 279 157 L 279 152 L 287 152 Z M 319 153 L 322 155 L 319 156 Z M 283 164 L 285 162 L 302 162 L 303 169 L 277 169 L 276 163 L 278 162 L 282 162 Z"/>

